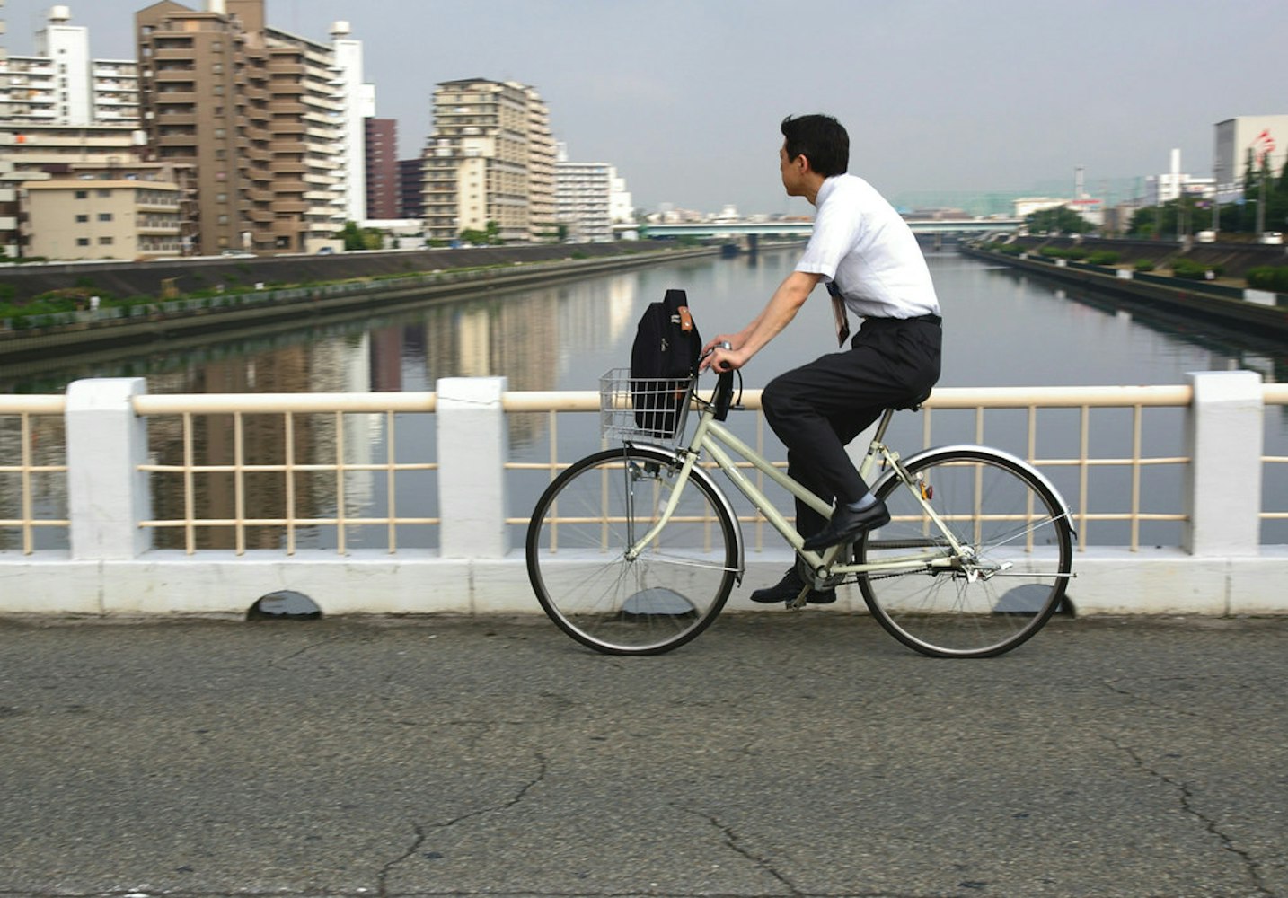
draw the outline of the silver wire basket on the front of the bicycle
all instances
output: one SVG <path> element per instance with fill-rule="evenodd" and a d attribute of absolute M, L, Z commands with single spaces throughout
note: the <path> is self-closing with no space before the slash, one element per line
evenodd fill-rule
<path fill-rule="evenodd" d="M 607 439 L 675 442 L 693 398 L 693 377 L 631 377 L 612 368 L 599 379 L 599 423 Z"/>

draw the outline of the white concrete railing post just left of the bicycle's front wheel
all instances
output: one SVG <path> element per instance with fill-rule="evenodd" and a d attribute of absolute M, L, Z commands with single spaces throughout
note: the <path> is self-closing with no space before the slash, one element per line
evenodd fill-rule
<path fill-rule="evenodd" d="M 505 463 L 509 430 L 501 394 L 505 377 L 438 381 L 438 517 L 443 558 L 502 558 Z"/>

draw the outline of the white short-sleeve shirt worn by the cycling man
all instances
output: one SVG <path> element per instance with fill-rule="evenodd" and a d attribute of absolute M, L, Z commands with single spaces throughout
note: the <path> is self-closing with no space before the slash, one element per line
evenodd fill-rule
<path fill-rule="evenodd" d="M 855 175 L 833 175 L 815 197 L 814 233 L 796 271 L 836 281 L 864 318 L 939 314 L 926 258 L 908 223 Z"/>

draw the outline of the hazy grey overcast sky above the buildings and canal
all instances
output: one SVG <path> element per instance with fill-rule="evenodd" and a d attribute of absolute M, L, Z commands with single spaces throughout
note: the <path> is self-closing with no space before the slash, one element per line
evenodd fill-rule
<path fill-rule="evenodd" d="M 46 0 L 8 0 L 10 53 Z M 142 0 L 68 0 L 97 58 L 133 58 Z M 185 3 L 205 8 L 205 0 Z M 267 0 L 278 28 L 362 40 L 399 155 L 439 81 L 535 86 L 569 158 L 617 166 L 635 204 L 809 214 L 778 180 L 779 120 L 828 112 L 850 171 L 887 196 L 1088 192 L 1211 175 L 1213 125 L 1288 113 L 1288 0 Z M 1122 200 L 1122 196 L 1110 196 Z"/>

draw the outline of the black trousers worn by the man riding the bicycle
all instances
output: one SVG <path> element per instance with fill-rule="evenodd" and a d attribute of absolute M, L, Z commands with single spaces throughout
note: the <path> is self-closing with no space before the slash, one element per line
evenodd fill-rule
<path fill-rule="evenodd" d="M 787 446 L 787 473 L 824 501 L 862 499 L 868 484 L 845 446 L 885 408 L 935 385 L 942 338 L 938 317 L 864 318 L 849 349 L 774 377 L 761 402 L 769 426 Z M 796 501 L 801 536 L 826 523 Z"/>

